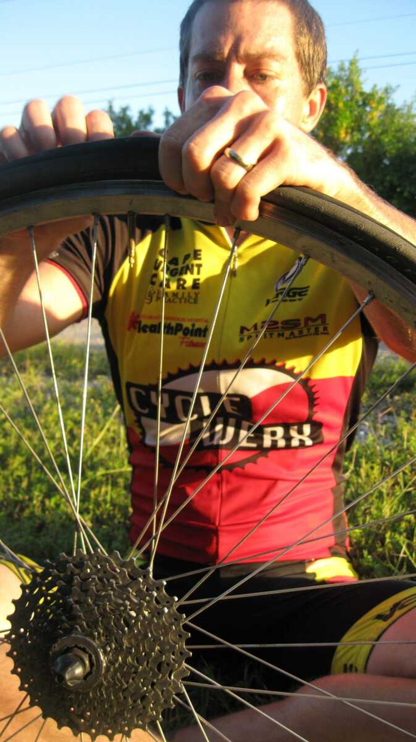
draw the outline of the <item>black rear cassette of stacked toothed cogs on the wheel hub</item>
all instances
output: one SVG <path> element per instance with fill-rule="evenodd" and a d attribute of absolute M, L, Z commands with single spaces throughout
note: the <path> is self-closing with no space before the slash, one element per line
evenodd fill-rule
<path fill-rule="evenodd" d="M 8 654 L 30 705 L 92 740 L 160 721 L 190 654 L 164 584 L 117 553 L 47 562 L 10 617 Z"/>

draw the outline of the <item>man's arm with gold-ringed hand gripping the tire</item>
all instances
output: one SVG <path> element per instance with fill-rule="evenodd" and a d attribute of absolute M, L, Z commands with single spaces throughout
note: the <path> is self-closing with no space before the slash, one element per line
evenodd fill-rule
<path fill-rule="evenodd" d="M 251 171 L 225 157 L 232 146 Z M 416 222 L 397 211 L 312 136 L 270 111 L 252 91 L 232 95 L 212 87 L 161 139 L 159 164 L 167 185 L 202 200 L 215 199 L 218 223 L 257 219 L 261 197 L 279 185 L 303 185 L 362 211 L 416 245 Z M 353 287 L 358 300 L 363 289 Z M 409 361 L 416 332 L 374 301 L 366 310 L 375 332 Z"/>

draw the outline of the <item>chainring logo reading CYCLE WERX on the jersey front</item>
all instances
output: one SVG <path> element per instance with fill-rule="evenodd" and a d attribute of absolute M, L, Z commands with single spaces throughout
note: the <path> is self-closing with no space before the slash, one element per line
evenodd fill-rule
<path fill-rule="evenodd" d="M 318 399 L 310 381 L 301 379 L 285 365 L 250 362 L 233 381 L 235 364 L 209 364 L 204 370 L 192 410 L 183 457 L 198 439 L 188 467 L 200 470 L 218 464 L 240 444 L 224 465 L 233 469 L 255 462 L 271 451 L 298 449 L 322 443 L 322 423 L 314 418 Z M 189 367 L 168 375 L 161 395 L 161 459 L 175 463 L 178 445 L 192 404 L 198 369 Z M 141 443 L 155 447 L 158 391 L 156 385 L 127 382 L 127 400 L 135 416 Z M 279 401 L 278 401 L 279 400 Z M 276 401 L 278 404 L 275 405 Z M 269 413 L 268 410 L 275 405 Z M 255 430 L 253 425 L 258 424 Z M 206 430 L 205 430 L 206 428 Z"/>

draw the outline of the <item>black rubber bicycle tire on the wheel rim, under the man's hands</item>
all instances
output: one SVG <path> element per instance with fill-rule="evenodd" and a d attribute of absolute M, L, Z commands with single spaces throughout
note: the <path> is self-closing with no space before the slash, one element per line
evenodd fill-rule
<path fill-rule="evenodd" d="M 159 180 L 156 137 L 123 137 L 86 142 L 24 157 L 0 168 L 0 201 L 39 188 L 103 180 Z M 264 202 L 312 218 L 345 234 L 416 281 L 416 248 L 396 232 L 356 209 L 311 188 L 281 186 Z"/>

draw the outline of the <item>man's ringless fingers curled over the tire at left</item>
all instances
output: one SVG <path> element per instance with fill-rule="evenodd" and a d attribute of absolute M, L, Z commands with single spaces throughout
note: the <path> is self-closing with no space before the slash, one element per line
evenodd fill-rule
<path fill-rule="evenodd" d="M 33 99 L 23 109 L 19 129 L 0 131 L 0 162 L 13 162 L 62 145 L 112 139 L 113 124 L 105 111 L 84 112 L 81 101 L 64 96 L 50 112 L 43 100 Z"/>

